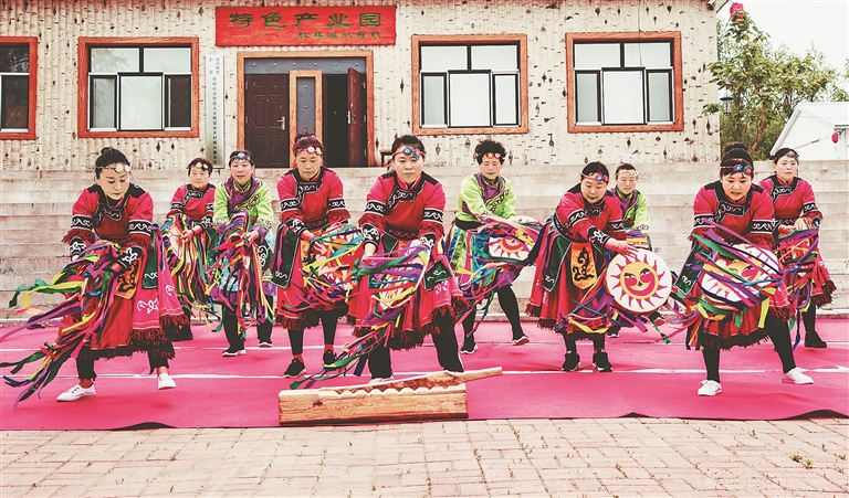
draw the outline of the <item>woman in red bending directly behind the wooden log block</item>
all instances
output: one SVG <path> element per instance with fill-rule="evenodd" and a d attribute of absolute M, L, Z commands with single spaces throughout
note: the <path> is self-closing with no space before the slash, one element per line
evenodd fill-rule
<path fill-rule="evenodd" d="M 413 135 L 392 142 L 391 170 L 375 181 L 368 192 L 366 210 L 359 219 L 364 237 L 364 258 L 412 245 L 426 245 L 430 251 L 424 282 L 406 304 L 386 343 L 378 343 L 369 353 L 368 368 L 373 382 L 392 379 L 389 349 L 411 349 L 421 346 L 426 336 L 433 338 L 439 364 L 452 372 L 462 372 L 454 324 L 457 315 L 452 299 L 461 297 L 448 259 L 441 251 L 442 215 L 446 193 L 442 184 L 422 172 L 424 145 Z M 360 327 L 371 311 L 373 289 L 368 276 L 359 282 L 359 294 L 352 300 L 356 318 L 355 333 L 364 336 L 370 328 Z"/>

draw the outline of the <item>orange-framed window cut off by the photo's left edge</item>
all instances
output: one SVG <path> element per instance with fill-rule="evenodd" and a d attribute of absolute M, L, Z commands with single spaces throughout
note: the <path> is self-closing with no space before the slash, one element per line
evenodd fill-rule
<path fill-rule="evenodd" d="M 35 36 L 0 36 L 0 139 L 35 138 Z"/>

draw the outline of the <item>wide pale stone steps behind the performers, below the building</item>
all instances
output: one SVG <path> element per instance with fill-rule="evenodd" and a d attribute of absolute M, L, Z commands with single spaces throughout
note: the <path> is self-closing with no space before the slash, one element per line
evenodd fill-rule
<path fill-rule="evenodd" d="M 772 173 L 771 163 L 756 165 L 756 178 Z M 715 163 L 637 165 L 639 189 L 649 201 L 651 237 L 656 253 L 670 269 L 681 268 L 690 244 L 686 235 L 692 226 L 692 202 L 699 188 L 716 179 Z M 563 193 L 577 183 L 581 166 L 516 167 L 507 165 L 503 174 L 513 181 L 517 212 L 546 220 Z M 450 224 L 457 209 L 459 184 L 474 172 L 473 166 L 428 168 L 446 189 Z M 345 184 L 345 200 L 353 220 L 359 218 L 365 197 L 375 178 L 376 168 L 337 169 Z M 259 170 L 258 176 L 272 190 L 276 200 L 276 181 L 282 170 Z M 155 201 L 155 220 L 161 222 L 175 189 L 186 182 L 184 170 L 135 170 L 135 183 L 150 192 Z M 213 173 L 220 183 L 227 171 Z M 800 176 L 814 186 L 817 203 L 825 214 L 820 229 L 820 247 L 838 290 L 832 309 L 849 308 L 849 162 L 805 162 Z M 60 242 L 71 221 L 71 206 L 80 192 L 92 184 L 92 173 L 39 170 L 0 171 L 0 318 L 12 316 L 8 301 L 13 290 L 35 278 L 50 280 L 67 263 L 67 247 Z M 274 202 L 274 209 L 279 203 Z M 531 292 L 533 271 L 522 273 L 514 285 L 520 306 Z M 36 296 L 33 303 L 48 305 L 57 297 Z M 497 312 L 496 310 L 493 310 Z"/>

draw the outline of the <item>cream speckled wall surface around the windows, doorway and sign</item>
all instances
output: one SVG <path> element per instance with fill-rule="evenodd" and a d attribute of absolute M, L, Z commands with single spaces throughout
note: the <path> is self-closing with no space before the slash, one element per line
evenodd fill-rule
<path fill-rule="evenodd" d="M 2 34 L 39 36 L 38 117 L 35 140 L 0 140 L 2 169 L 84 169 L 97 151 L 112 145 L 125 151 L 136 167 L 184 168 L 202 152 L 205 137 L 205 57 L 224 56 L 227 71 L 226 149 L 235 147 L 235 59 L 240 51 L 300 50 L 296 47 L 218 47 L 214 45 L 216 7 L 261 6 L 260 0 L 118 1 L 78 0 L 3 2 Z M 306 2 L 283 1 L 280 6 Z M 321 6 L 350 2 L 318 2 Z M 375 0 L 374 4 L 395 4 Z M 359 4 L 359 2 L 357 2 Z M 715 161 L 720 153 L 717 116 L 703 116 L 702 106 L 717 100 L 705 65 L 716 59 L 715 18 L 703 1 L 636 0 L 562 1 L 515 0 L 400 0 L 397 2 L 397 44 L 354 46 L 373 50 L 375 60 L 375 138 L 377 151 L 396 134 L 411 129 L 410 36 L 412 34 L 525 33 L 528 36 L 530 133 L 494 135 L 518 165 L 544 166 L 601 160 L 652 162 Z M 680 31 L 683 52 L 684 130 L 681 133 L 567 134 L 566 32 Z M 78 36 L 192 36 L 200 41 L 199 138 L 76 138 L 76 50 Z M 307 47 L 305 52 L 324 50 Z M 337 50 L 337 49 L 334 49 Z M 434 166 L 471 163 L 479 135 L 429 137 L 429 160 Z"/>

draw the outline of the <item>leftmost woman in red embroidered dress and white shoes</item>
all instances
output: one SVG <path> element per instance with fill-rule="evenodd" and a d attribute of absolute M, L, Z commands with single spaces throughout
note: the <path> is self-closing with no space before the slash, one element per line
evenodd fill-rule
<path fill-rule="evenodd" d="M 176 383 L 169 375 L 168 360 L 174 346 L 166 336 L 174 335 L 186 324 L 169 272 L 146 266 L 163 257 L 161 243 L 154 243 L 154 201 L 150 194 L 130 183 L 130 167 L 119 150 L 106 147 L 95 162 L 95 183 L 83 191 L 73 206 L 71 230 L 63 242 L 71 245 L 71 255 L 83 253 L 98 241 L 118 244 L 119 257 L 106 267 L 118 284 L 114 299 L 93 306 L 107 306 L 98 333 L 93 333 L 76 357 L 80 383 L 59 395 L 57 401 L 77 401 L 94 396 L 94 361 L 98 358 L 147 353 L 150 371 L 158 374 L 158 388 L 171 389 Z M 151 280 L 150 275 L 156 275 Z M 170 294 L 168 294 L 170 293 Z M 83 319 L 92 315 L 83 309 Z M 62 333 L 60 330 L 60 333 Z"/>

